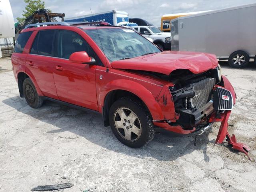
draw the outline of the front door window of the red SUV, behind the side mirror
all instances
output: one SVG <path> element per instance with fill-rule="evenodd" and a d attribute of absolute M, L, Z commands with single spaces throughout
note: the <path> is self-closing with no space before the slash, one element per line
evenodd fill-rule
<path fill-rule="evenodd" d="M 60 30 L 58 35 L 57 57 L 69 59 L 74 52 L 85 51 L 88 56 L 95 58 L 98 65 L 103 66 L 90 45 L 79 34 L 73 31 Z"/>

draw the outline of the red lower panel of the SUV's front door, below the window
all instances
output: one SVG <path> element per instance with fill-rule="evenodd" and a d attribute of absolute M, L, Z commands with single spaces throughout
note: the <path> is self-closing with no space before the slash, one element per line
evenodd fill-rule
<path fill-rule="evenodd" d="M 51 65 L 58 99 L 98 110 L 95 65 L 73 63 L 62 58 L 52 58 Z"/>

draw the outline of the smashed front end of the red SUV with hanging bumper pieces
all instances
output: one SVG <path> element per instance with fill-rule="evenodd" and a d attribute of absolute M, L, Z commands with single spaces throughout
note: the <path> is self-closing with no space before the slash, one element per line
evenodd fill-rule
<path fill-rule="evenodd" d="M 170 97 L 175 115 L 172 119 L 154 122 L 156 126 L 180 134 L 200 135 L 214 122 L 222 122 L 216 144 L 221 144 L 226 138 L 232 148 L 248 156 L 250 148 L 237 143 L 235 136 L 228 134 L 228 118 L 235 104 L 236 94 L 228 79 L 221 76 L 219 67 L 202 74 L 177 71 L 170 75 L 170 80 L 173 82 L 173 86 L 169 86 L 170 96 L 166 96 L 166 88 L 163 88 L 163 101 L 166 103 Z M 157 99 L 161 100 L 162 97 L 160 94 Z M 250 159 L 249 156 L 248 158 Z"/>

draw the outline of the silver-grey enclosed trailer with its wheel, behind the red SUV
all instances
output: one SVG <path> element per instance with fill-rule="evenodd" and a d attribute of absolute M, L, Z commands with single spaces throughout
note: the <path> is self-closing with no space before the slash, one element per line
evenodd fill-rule
<path fill-rule="evenodd" d="M 256 3 L 179 17 L 171 22 L 172 50 L 208 52 L 230 66 L 256 54 Z"/>

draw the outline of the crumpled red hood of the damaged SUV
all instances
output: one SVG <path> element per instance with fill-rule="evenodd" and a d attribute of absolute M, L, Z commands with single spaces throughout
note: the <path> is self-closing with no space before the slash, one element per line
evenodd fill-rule
<path fill-rule="evenodd" d="M 169 75 L 176 69 L 199 74 L 218 66 L 213 54 L 200 52 L 164 51 L 126 60 L 113 61 L 114 69 L 143 70 Z"/>

